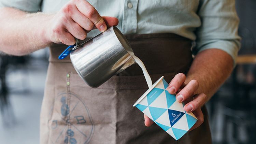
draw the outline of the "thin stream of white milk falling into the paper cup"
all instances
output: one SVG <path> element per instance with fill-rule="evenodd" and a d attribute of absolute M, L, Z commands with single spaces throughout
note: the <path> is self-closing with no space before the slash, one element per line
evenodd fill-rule
<path fill-rule="evenodd" d="M 143 74 L 145 76 L 145 79 L 147 81 L 147 85 L 148 85 L 148 88 L 152 88 L 152 80 L 151 80 L 151 77 L 150 75 L 148 74 L 147 70 L 146 70 L 146 67 L 144 66 L 143 62 L 134 55 L 133 52 L 130 52 L 128 51 L 128 53 L 134 58 L 134 60 L 139 64 L 139 66 L 141 67 L 142 71 L 143 71 Z"/>

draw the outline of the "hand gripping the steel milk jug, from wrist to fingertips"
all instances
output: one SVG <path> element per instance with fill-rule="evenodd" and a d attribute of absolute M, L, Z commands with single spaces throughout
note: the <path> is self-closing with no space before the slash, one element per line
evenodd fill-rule
<path fill-rule="evenodd" d="M 58 11 L 48 27 L 46 26 L 46 41 L 75 44 L 75 38 L 84 40 L 92 29 L 104 32 L 108 27 L 116 26 L 115 17 L 100 16 L 97 10 L 86 0 L 71 0 Z"/>

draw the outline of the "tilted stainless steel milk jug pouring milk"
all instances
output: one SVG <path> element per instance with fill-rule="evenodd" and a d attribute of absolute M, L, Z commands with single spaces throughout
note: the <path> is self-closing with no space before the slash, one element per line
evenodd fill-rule
<path fill-rule="evenodd" d="M 130 44 L 113 26 L 71 50 L 70 59 L 84 82 L 97 88 L 136 63 L 130 54 L 133 54 Z"/>

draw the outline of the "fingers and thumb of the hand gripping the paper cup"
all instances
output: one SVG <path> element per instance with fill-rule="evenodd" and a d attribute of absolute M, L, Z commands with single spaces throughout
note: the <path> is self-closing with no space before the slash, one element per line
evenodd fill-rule
<path fill-rule="evenodd" d="M 204 93 L 195 94 L 195 91 L 199 87 L 197 80 L 192 80 L 188 84 L 185 84 L 186 76 L 183 73 L 175 75 L 168 86 L 168 92 L 170 94 L 177 93 L 176 100 L 178 102 L 184 102 L 186 105 L 184 109 L 186 112 L 193 112 L 197 117 L 196 124 L 190 129 L 193 130 L 199 127 L 203 123 L 203 113 L 201 106 L 206 102 L 207 96 Z M 194 97 L 194 100 L 193 100 Z M 144 114 L 145 125 L 151 126 L 154 122 Z"/>

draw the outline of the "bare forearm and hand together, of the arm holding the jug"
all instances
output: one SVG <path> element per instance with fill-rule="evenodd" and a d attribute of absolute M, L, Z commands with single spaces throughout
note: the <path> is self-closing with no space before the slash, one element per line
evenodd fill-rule
<path fill-rule="evenodd" d="M 118 24 L 115 17 L 101 17 L 85 0 L 70 0 L 52 15 L 0 8 L 0 19 L 0 51 L 11 55 L 26 55 L 52 43 L 73 45 L 75 38 L 84 40 L 93 29 L 104 32 Z"/>

